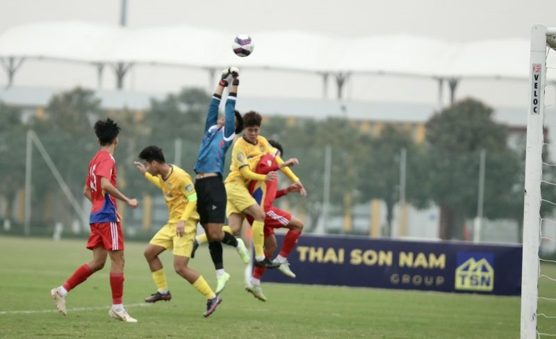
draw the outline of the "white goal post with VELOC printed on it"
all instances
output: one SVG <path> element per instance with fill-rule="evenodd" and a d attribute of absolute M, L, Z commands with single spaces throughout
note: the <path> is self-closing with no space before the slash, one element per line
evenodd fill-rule
<path fill-rule="evenodd" d="M 531 30 L 530 99 L 525 156 L 523 261 L 521 264 L 521 339 L 537 338 L 539 246 L 541 240 L 541 180 L 546 82 L 546 51 L 556 47 L 556 27 Z"/>

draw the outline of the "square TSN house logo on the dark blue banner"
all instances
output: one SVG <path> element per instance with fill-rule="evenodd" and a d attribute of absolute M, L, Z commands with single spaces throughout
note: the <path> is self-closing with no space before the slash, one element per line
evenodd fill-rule
<path fill-rule="evenodd" d="M 490 292 L 494 289 L 494 256 L 491 253 L 457 253 L 455 289 Z"/>

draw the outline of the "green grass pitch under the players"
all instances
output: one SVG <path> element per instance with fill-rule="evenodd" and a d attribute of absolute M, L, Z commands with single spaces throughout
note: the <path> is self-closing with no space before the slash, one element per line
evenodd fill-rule
<path fill-rule="evenodd" d="M 172 270 L 163 254 L 169 302 L 145 304 L 156 288 L 142 251 L 126 243 L 124 305 L 137 324 L 108 317 L 111 292 L 107 263 L 67 297 L 67 316 L 54 307 L 49 290 L 90 260 L 85 240 L 0 237 L 0 338 L 518 338 L 520 299 L 267 283 L 268 302 L 243 289 L 243 269 L 234 250 L 224 252 L 232 279 L 223 303 L 204 318 L 201 295 Z M 224 247 L 225 248 L 225 247 Z M 208 249 L 201 247 L 191 266 L 215 285 Z M 293 267 L 295 270 L 295 267 Z M 556 267 L 543 265 L 556 276 Z M 556 297 L 556 283 L 540 281 L 539 295 Z M 539 311 L 556 313 L 556 301 Z M 539 320 L 539 330 L 556 333 L 556 321 Z"/>

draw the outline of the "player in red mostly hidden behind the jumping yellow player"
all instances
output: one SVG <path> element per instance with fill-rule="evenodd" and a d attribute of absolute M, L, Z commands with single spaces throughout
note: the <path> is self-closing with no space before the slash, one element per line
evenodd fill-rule
<path fill-rule="evenodd" d="M 268 140 L 270 146 L 278 150 L 277 155 L 282 156 L 284 154 L 284 149 L 281 144 L 275 140 Z M 298 163 L 297 159 L 294 159 L 294 163 Z M 275 154 L 264 154 L 259 160 L 259 164 L 256 166 L 255 172 L 258 174 L 267 174 L 270 171 L 277 171 L 279 168 L 276 162 Z M 273 262 L 279 263 L 278 270 L 295 278 L 295 274 L 291 272 L 288 255 L 291 253 L 293 247 L 297 243 L 297 239 L 300 237 L 303 231 L 303 222 L 296 217 L 293 217 L 290 213 L 285 210 L 281 210 L 275 206 L 272 206 L 276 198 L 283 197 L 291 192 L 301 192 L 303 186 L 299 183 L 293 183 L 285 188 L 284 190 L 277 190 L 278 180 L 274 179 L 272 181 L 252 181 L 249 185 L 249 192 L 255 198 L 255 200 L 263 206 L 265 210 L 265 256 L 270 259 L 275 249 L 278 247 L 276 242 L 276 237 L 274 229 L 286 228 L 289 229 L 284 238 L 284 244 L 280 249 L 280 254 L 274 259 Z M 253 217 L 247 215 L 247 221 L 253 222 Z M 263 276 L 266 267 L 254 267 L 251 279 L 247 281 L 247 286 L 245 290 L 251 292 L 254 297 L 262 301 L 266 301 L 265 295 L 263 295 L 263 290 L 261 288 L 261 277 Z"/>

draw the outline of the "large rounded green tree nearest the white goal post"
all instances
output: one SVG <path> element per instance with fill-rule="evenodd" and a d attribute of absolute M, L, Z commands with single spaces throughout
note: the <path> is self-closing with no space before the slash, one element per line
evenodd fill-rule
<path fill-rule="evenodd" d="M 427 190 L 441 208 L 440 238 L 461 236 L 466 218 L 477 211 L 480 151 L 486 151 L 486 217 L 502 217 L 511 208 L 519 159 L 507 144 L 506 126 L 493 121 L 493 110 L 465 99 L 427 122 Z"/>

